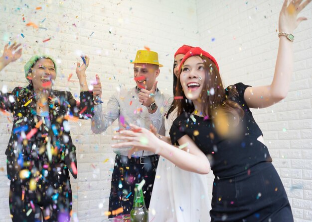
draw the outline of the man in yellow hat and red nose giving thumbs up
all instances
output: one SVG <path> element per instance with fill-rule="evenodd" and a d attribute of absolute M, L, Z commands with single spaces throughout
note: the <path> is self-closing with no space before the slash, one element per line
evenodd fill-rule
<path fill-rule="evenodd" d="M 137 85 L 131 89 L 121 88 L 114 93 L 105 111 L 102 110 L 101 103 L 94 107 L 95 115 L 91 121 L 94 133 L 104 132 L 118 119 L 121 130 L 130 129 L 129 123 L 147 129 L 153 124 L 158 133 L 164 135 L 163 115 L 172 103 L 172 97 L 161 93 L 156 87 L 156 77 L 160 73 L 159 67 L 162 67 L 158 62 L 158 54 L 149 50 L 139 50 L 131 64 L 134 64 L 134 80 Z M 93 93 L 96 100 L 101 101 L 102 86 L 98 75 L 96 78 Z M 128 149 L 114 149 L 114 152 L 116 157 L 109 201 L 110 218 L 130 214 L 135 184 L 143 180 L 145 203 L 149 208 L 159 158 L 149 151 L 138 151 L 130 159 L 127 157 Z"/>

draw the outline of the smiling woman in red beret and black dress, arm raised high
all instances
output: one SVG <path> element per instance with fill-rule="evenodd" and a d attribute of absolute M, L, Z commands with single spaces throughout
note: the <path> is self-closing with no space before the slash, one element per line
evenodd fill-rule
<path fill-rule="evenodd" d="M 311 0 L 285 0 L 279 17 L 280 45 L 271 85 L 236 83 L 224 89 L 216 60 L 200 48 L 185 54 L 177 81 L 178 117 L 170 129 L 172 144 L 132 125 L 112 147 L 133 146 L 159 153 L 182 169 L 215 175 L 212 222 L 293 222 L 282 181 L 250 108 L 271 106 L 287 95 L 293 70 L 291 34 L 305 17 L 298 13 Z M 140 131 L 141 132 L 138 132 Z M 145 138 L 149 141 L 142 144 Z M 207 158 L 208 157 L 208 158 Z M 209 159 L 209 161 L 208 161 Z M 183 194 L 181 194 L 183 195 Z M 160 203 L 161 204 L 161 203 Z"/>

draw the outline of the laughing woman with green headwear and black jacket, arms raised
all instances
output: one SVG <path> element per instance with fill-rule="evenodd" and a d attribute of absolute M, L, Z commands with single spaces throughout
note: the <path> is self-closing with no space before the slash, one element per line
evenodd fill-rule
<path fill-rule="evenodd" d="M 4 47 L 0 71 L 21 56 L 20 44 Z M 11 112 L 13 127 L 6 154 L 10 180 L 9 208 L 13 222 L 69 222 L 72 190 L 69 172 L 77 178 L 76 148 L 69 119 L 93 115 L 93 95 L 86 80 L 89 58 L 77 63 L 80 103 L 68 91 L 53 90 L 56 64 L 47 55 L 32 56 L 24 66 L 26 87 L 0 91 L 0 110 Z M 1 79 L 2 80 L 2 79 Z"/>

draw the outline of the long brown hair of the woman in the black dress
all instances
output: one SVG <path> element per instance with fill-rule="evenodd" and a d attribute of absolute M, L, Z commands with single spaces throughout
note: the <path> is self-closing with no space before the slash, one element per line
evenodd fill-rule
<path fill-rule="evenodd" d="M 200 56 L 203 60 L 205 70 L 205 80 L 203 82 L 203 89 L 200 94 L 202 103 L 202 115 L 208 116 L 211 119 L 215 115 L 216 111 L 220 108 L 226 114 L 234 117 L 235 120 L 239 120 L 244 116 L 244 110 L 234 102 L 231 98 L 238 96 L 238 92 L 235 87 L 229 86 L 224 89 L 222 79 L 216 65 L 207 57 Z M 182 69 L 180 70 L 180 74 Z M 191 100 L 187 99 L 181 82 L 180 74 L 178 76 L 176 84 L 175 96 L 182 96 L 183 99 L 175 100 L 175 106 L 178 107 L 177 115 L 181 115 L 183 112 L 192 113 L 194 111 L 194 105 Z M 236 118 L 235 118 L 236 117 Z"/>

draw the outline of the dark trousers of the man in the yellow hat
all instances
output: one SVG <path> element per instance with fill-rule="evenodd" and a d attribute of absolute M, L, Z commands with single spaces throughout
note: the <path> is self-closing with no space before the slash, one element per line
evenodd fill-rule
<path fill-rule="evenodd" d="M 135 195 L 135 184 L 143 179 L 143 193 L 147 209 L 150 206 L 153 185 L 158 164 L 158 156 L 150 163 L 140 163 L 140 158 L 116 155 L 112 174 L 112 187 L 109 201 L 109 211 L 113 218 L 118 215 L 130 214 Z M 156 160 L 156 161 L 154 161 Z"/>

